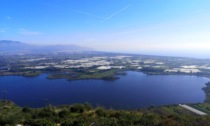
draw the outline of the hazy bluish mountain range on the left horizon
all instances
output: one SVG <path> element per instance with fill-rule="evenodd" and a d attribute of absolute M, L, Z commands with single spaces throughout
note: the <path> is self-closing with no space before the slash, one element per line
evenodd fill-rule
<path fill-rule="evenodd" d="M 61 52 L 86 52 L 90 48 L 77 45 L 32 45 L 20 41 L 0 40 L 0 53 L 61 53 Z"/>

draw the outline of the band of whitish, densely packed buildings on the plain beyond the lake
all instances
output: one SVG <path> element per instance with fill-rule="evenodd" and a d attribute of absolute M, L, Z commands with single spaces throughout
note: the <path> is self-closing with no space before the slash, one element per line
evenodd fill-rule
<path fill-rule="evenodd" d="M 169 68 L 163 61 L 154 59 L 140 59 L 133 56 L 95 56 L 89 58 L 79 59 L 65 59 L 58 62 L 48 61 L 47 58 L 28 59 L 25 62 L 32 61 L 45 61 L 37 66 L 25 67 L 25 69 L 46 69 L 54 67 L 59 69 L 65 68 L 95 68 L 96 70 L 109 70 L 109 69 L 124 69 L 133 68 L 141 70 L 143 68 L 163 69 L 166 73 L 200 73 L 202 70 L 210 70 L 208 65 L 183 65 L 176 68 Z"/>

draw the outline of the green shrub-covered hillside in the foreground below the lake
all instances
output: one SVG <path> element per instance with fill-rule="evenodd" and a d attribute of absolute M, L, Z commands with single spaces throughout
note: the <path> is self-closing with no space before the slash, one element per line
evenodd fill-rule
<path fill-rule="evenodd" d="M 0 102 L 0 125 L 33 126 L 209 126 L 210 116 L 197 116 L 178 105 L 128 111 L 93 108 L 89 104 L 18 107 Z"/>

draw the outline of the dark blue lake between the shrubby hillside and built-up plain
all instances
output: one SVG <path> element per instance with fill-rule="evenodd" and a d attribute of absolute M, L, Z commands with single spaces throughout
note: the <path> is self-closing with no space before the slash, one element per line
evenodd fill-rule
<path fill-rule="evenodd" d="M 128 71 L 116 81 L 48 80 L 46 74 L 27 78 L 1 76 L 0 91 L 20 106 L 43 107 L 89 102 L 115 109 L 203 102 L 202 88 L 210 79 L 187 75 L 154 75 Z M 1 93 L 3 98 L 3 93 Z"/>

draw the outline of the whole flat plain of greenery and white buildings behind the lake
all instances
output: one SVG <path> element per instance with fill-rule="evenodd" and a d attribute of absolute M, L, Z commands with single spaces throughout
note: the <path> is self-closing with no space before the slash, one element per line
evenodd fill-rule
<path fill-rule="evenodd" d="M 148 75 L 190 74 L 210 77 L 210 60 L 185 57 L 145 56 L 115 53 L 1 55 L 0 75 L 38 76 L 49 79 L 118 79 L 126 71 Z"/>

